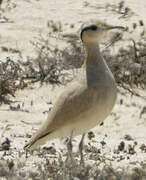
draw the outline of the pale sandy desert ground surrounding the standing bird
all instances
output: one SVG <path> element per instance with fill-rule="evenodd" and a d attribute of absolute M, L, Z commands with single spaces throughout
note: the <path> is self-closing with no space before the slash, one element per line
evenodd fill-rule
<path fill-rule="evenodd" d="M 42 59 L 40 52 L 43 51 L 35 44 L 40 37 L 48 38 L 63 55 L 66 48 L 64 35 L 79 37 L 81 25 L 92 18 L 128 27 L 122 41 L 109 47 L 112 54 L 117 55 L 121 47 L 126 49 L 131 42 L 143 42 L 146 47 L 146 1 L 121 2 L 3 0 L 0 7 L 0 65 L 8 59 L 14 63 Z M 56 34 L 58 38 L 54 38 Z M 55 59 L 55 53 L 53 55 Z M 146 54 L 143 61 L 146 63 Z M 78 73 L 75 67 L 73 64 L 72 68 L 63 69 L 60 81 L 66 74 L 68 78 L 74 76 L 74 72 Z M 17 81 L 20 79 L 15 83 Z M 129 87 L 129 82 L 126 82 L 126 87 Z M 84 146 L 85 167 L 79 165 L 80 136 L 73 140 L 77 167 L 66 161 L 65 139 L 47 142 L 33 152 L 26 153 L 23 149 L 47 118 L 67 82 L 61 84 L 37 79 L 30 83 L 26 78 L 23 88 L 1 95 L 0 180 L 146 180 L 146 80 L 139 82 L 138 86 L 133 82 L 132 92 L 119 86 L 116 105 L 110 116 L 102 126 L 89 130 Z"/>

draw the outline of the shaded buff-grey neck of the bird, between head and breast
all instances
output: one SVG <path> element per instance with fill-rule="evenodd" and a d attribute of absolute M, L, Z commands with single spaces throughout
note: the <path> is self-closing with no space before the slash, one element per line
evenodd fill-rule
<path fill-rule="evenodd" d="M 114 82 L 113 75 L 102 57 L 98 43 L 85 44 L 87 58 L 84 63 L 87 82 L 89 86 L 102 84 L 103 82 Z"/>

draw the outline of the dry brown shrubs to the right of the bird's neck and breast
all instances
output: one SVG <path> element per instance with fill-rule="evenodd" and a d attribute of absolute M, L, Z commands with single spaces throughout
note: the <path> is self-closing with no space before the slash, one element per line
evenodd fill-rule
<path fill-rule="evenodd" d="M 118 85 L 146 88 L 145 52 L 146 40 L 141 40 L 133 42 L 127 49 L 120 48 L 117 55 L 110 55 L 108 51 L 104 53 Z"/>

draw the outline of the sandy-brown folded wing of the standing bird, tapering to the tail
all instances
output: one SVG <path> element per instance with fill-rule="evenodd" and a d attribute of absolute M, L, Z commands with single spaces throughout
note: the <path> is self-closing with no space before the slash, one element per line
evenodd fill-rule
<path fill-rule="evenodd" d="M 86 85 L 79 82 L 71 83 L 59 96 L 45 123 L 28 144 L 33 144 L 61 126 L 74 123 L 80 114 L 87 112 L 90 108 L 90 96 L 92 93 L 89 93 Z"/>

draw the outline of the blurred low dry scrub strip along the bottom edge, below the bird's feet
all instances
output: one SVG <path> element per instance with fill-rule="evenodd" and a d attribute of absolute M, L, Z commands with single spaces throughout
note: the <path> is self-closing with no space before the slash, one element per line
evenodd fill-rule
<path fill-rule="evenodd" d="M 1 160 L 0 177 L 3 180 L 145 180 L 146 178 L 144 166 L 129 171 L 124 168 L 115 170 L 106 165 L 99 169 L 98 164 L 84 169 L 78 166 L 76 169 L 65 166 L 63 162 L 54 161 L 50 163 L 47 159 L 43 165 L 37 163 L 35 166 L 35 172 L 31 169 L 25 171 L 23 163 L 19 162 L 16 165 L 13 161 Z"/>

